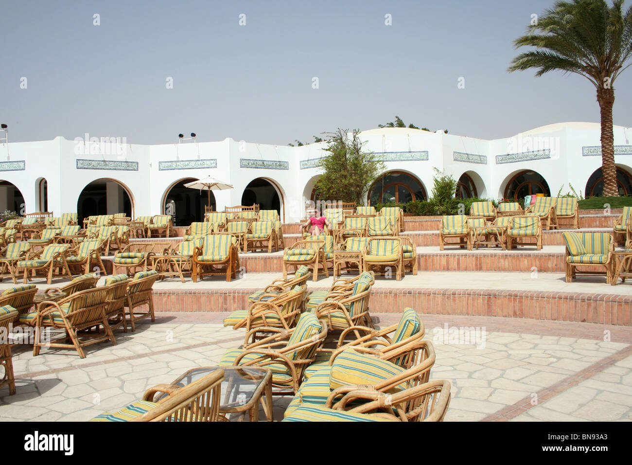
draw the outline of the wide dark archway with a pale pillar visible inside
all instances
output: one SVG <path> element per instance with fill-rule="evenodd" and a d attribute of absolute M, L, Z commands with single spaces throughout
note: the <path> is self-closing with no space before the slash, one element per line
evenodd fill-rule
<path fill-rule="evenodd" d="M 134 203 L 130 190 L 114 179 L 101 178 L 83 188 L 77 200 L 77 224 L 83 218 L 97 214 L 125 213 L 134 218 Z"/>

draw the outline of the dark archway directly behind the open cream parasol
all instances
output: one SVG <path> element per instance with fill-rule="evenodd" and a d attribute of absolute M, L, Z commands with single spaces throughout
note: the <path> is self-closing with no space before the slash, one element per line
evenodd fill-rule
<path fill-rule="evenodd" d="M 204 221 L 205 206 L 209 202 L 207 190 L 185 187 L 188 182 L 197 178 L 186 178 L 176 181 L 166 190 L 162 199 L 162 213 L 173 216 L 174 226 L 188 226 L 196 221 Z M 210 206 L 216 211 L 217 202 L 213 191 L 210 191 Z"/>

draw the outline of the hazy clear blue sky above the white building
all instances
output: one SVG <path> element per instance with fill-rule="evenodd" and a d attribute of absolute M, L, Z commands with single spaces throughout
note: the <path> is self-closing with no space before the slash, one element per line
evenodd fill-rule
<path fill-rule="evenodd" d="M 395 115 L 483 139 L 599 122 L 586 78 L 506 72 L 513 39 L 552 3 L 3 0 L 0 122 L 13 142 L 196 132 L 279 145 Z M 632 69 L 614 83 L 617 125 L 632 125 L 631 83 Z"/>

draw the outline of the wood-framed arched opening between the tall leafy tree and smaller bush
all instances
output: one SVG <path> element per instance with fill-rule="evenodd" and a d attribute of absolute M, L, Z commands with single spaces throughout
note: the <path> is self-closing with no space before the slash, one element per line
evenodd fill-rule
<path fill-rule="evenodd" d="M 368 190 L 371 205 L 425 200 L 426 190 L 416 177 L 404 171 L 388 171 L 378 178 Z"/>

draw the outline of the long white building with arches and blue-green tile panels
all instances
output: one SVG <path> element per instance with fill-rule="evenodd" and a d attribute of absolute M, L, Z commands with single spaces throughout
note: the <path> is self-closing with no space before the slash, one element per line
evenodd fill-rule
<path fill-rule="evenodd" d="M 427 199 L 434 168 L 459 180 L 461 197 L 518 199 L 525 195 L 568 192 L 600 195 L 600 126 L 557 123 L 513 137 L 483 140 L 410 128 L 379 128 L 360 134 L 384 161 L 386 171 L 367 201 Z M 121 139 L 76 140 L 56 137 L 38 142 L 0 144 L 0 210 L 92 214 L 165 213 L 174 225 L 200 221 L 207 193 L 183 187 L 211 176 L 234 189 L 214 191 L 211 203 L 260 204 L 277 209 L 285 223 L 305 216 L 319 178 L 325 143 L 290 147 L 236 141 L 126 144 Z M 614 127 L 617 182 L 632 194 L 632 129 Z M 171 204 L 170 207 L 167 207 Z M 81 223 L 80 223 L 81 224 Z"/>

